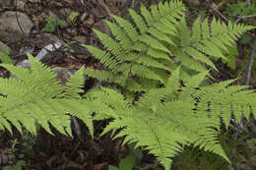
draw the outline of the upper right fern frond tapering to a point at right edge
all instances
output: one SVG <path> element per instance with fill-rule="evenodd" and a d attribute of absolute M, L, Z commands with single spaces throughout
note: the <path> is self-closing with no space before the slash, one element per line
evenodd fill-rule
<path fill-rule="evenodd" d="M 241 36 L 242 33 L 253 27 L 232 25 L 230 23 L 226 26 L 216 19 L 213 19 L 211 24 L 209 24 L 208 19 L 201 23 L 201 19 L 198 18 L 193 24 L 192 33 L 189 33 L 189 28 L 187 28 L 184 19 L 181 20 L 176 28 L 179 30 L 179 45 L 170 49 L 170 51 L 173 51 L 174 56 L 179 59 L 180 54 L 177 55 L 176 51 L 182 51 L 187 58 L 203 62 L 217 70 L 208 57 L 211 56 L 215 59 L 223 58 L 224 60 L 228 60 L 224 56 L 224 53 L 228 52 L 227 46 L 233 46 L 235 40 Z M 192 64 L 190 62 L 190 65 L 184 63 L 184 59 L 180 59 L 180 61 L 182 65 L 191 70 L 195 70 L 196 67 L 199 66 L 198 63 Z M 195 71 L 202 72 L 204 70 Z"/>

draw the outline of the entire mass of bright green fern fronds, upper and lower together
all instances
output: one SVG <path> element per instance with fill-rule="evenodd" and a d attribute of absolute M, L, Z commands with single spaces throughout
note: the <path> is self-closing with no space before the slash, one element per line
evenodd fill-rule
<path fill-rule="evenodd" d="M 256 93 L 245 85 L 230 85 L 234 80 L 202 86 L 209 72 L 199 62 L 216 69 L 210 58 L 226 59 L 228 46 L 253 27 L 225 26 L 216 19 L 209 26 L 208 19 L 198 18 L 189 29 L 184 11 L 183 4 L 173 0 L 151 10 L 142 6 L 141 15 L 129 10 L 135 25 L 114 16 L 117 24 L 106 22 L 113 37 L 95 30 L 105 50 L 85 45 L 107 70 L 81 68 L 65 87 L 31 55 L 32 69 L 1 64 L 17 78 L 0 78 L 0 129 L 12 132 L 11 123 L 21 133 L 23 125 L 36 134 L 37 124 L 51 133 L 50 123 L 72 136 L 72 115 L 84 121 L 93 136 L 93 120 L 112 118 L 102 134 L 125 136 L 124 143 L 150 150 L 165 169 L 183 150 L 181 145 L 192 143 L 230 163 L 218 140 L 220 117 L 227 126 L 230 115 L 247 118 L 255 113 Z M 82 95 L 84 74 L 110 87 Z M 127 97 L 137 91 L 143 92 L 135 99 Z"/>

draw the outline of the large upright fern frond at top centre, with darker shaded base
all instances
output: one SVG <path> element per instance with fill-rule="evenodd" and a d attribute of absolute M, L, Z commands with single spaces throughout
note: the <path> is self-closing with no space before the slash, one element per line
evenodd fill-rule
<path fill-rule="evenodd" d="M 158 86 L 164 82 L 164 78 L 173 70 L 173 68 L 168 67 L 173 65 L 173 62 L 168 56 L 169 49 L 160 41 L 166 41 L 173 45 L 174 43 L 161 30 L 167 26 L 170 27 L 170 30 L 173 30 L 171 34 L 175 34 L 176 29 L 173 23 L 168 21 L 174 21 L 175 23 L 184 15 L 185 8 L 179 1 L 172 1 L 162 4 L 161 11 L 157 6 L 152 6 L 151 9 L 152 14 L 146 7 L 142 6 L 143 16 L 140 16 L 134 10 L 129 10 L 135 26 L 117 16 L 113 16 L 117 24 L 106 21 L 113 37 L 95 30 L 106 52 L 93 46 L 85 46 L 107 70 L 95 72 L 92 69 L 86 69 L 85 73 L 88 76 L 120 85 L 133 92 L 148 89 L 150 86 Z M 106 72 L 108 72 L 108 78 L 114 79 L 106 79 L 106 74 L 102 75 Z M 99 73 L 100 75 L 98 75 Z M 147 80 L 148 84 L 143 84 Z M 135 88 L 130 82 L 142 86 L 136 85 L 138 88 Z"/>

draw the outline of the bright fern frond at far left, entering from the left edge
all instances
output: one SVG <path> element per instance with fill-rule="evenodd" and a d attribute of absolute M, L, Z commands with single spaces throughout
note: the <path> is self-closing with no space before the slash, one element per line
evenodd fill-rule
<path fill-rule="evenodd" d="M 101 103 L 91 103 L 80 95 L 84 90 L 84 68 L 73 75 L 63 88 L 56 75 L 49 68 L 35 60 L 29 54 L 32 69 L 1 64 L 16 79 L 0 79 L 0 129 L 12 132 L 10 123 L 19 132 L 22 125 L 32 134 L 36 134 L 36 124 L 51 133 L 49 123 L 60 133 L 70 135 L 70 115 L 82 119 L 93 135 L 91 114 L 100 108 Z M 105 107 L 107 109 L 107 107 Z"/>

